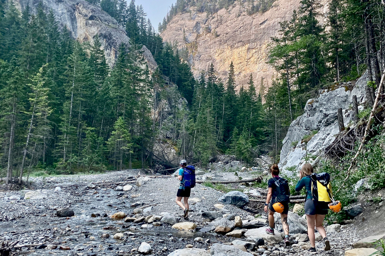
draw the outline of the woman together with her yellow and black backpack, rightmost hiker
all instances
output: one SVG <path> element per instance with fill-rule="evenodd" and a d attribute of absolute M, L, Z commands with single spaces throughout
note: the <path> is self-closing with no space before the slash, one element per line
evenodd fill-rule
<path fill-rule="evenodd" d="M 312 254 L 317 253 L 314 227 L 322 235 L 324 250 L 330 250 L 330 242 L 326 237 L 323 226 L 323 220 L 329 207 L 328 204 L 332 201 L 330 175 L 327 172 L 313 173 L 313 166 L 310 163 L 305 163 L 299 171 L 299 180 L 295 190 L 300 191 L 303 187 L 306 188 L 305 214 L 307 234 L 311 246 L 309 252 Z"/>

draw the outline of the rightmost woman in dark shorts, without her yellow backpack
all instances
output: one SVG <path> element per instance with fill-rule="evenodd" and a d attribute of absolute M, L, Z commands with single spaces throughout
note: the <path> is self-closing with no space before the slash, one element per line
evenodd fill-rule
<path fill-rule="evenodd" d="M 307 234 L 309 236 L 311 248 L 310 253 L 317 253 L 315 250 L 315 234 L 314 227 L 323 237 L 325 245 L 324 250 L 330 250 L 330 242 L 326 237 L 326 231 L 323 227 L 323 220 L 327 214 L 328 205 L 325 202 L 315 202 L 311 194 L 311 177 L 313 166 L 310 163 L 305 163 L 299 171 L 299 180 L 295 187 L 296 191 L 300 191 L 303 187 L 306 188 L 305 214 L 307 220 Z"/>

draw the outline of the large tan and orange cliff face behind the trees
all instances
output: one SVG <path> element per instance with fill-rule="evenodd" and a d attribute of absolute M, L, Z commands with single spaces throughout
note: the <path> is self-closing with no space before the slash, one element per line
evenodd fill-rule
<path fill-rule="evenodd" d="M 270 38 L 279 35 L 279 22 L 291 18 L 300 0 L 276 0 L 268 11 L 253 15 L 238 2 L 210 17 L 194 9 L 177 14 L 160 35 L 164 41 L 176 42 L 178 48 L 187 47 L 188 62 L 196 77 L 213 62 L 217 75 L 226 80 L 233 61 L 237 89 L 247 84 L 250 74 L 257 86 L 263 77 L 267 87 L 274 75 L 266 63 Z"/>

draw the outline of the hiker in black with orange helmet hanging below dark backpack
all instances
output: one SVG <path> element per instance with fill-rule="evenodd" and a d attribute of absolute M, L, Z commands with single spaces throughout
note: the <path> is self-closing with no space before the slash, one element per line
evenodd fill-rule
<path fill-rule="evenodd" d="M 274 212 L 281 213 L 281 221 L 283 231 L 285 232 L 284 243 L 290 245 L 289 240 L 289 224 L 287 223 L 287 213 L 289 211 L 289 183 L 286 179 L 279 176 L 279 168 L 277 164 L 270 167 L 272 178 L 267 181 L 268 192 L 265 203 L 265 212 L 269 209 L 269 226 L 266 228 L 266 233 L 274 234 Z"/>

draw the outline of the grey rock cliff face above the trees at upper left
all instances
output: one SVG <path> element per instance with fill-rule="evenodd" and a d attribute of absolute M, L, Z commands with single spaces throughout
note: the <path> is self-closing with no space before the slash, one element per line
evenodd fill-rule
<path fill-rule="evenodd" d="M 100 8 L 91 5 L 87 1 L 74 0 L 13 0 L 22 11 L 27 5 L 33 12 L 40 1 L 48 12 L 55 13 L 56 19 L 62 28 L 67 26 L 74 38 L 80 42 L 93 43 L 95 35 L 99 35 L 102 47 L 106 54 L 107 63 L 112 67 L 117 58 L 118 48 L 121 43 L 129 45 L 129 38 L 122 27 L 114 18 Z M 151 52 L 143 46 L 144 56 L 150 70 L 156 68 L 156 62 Z"/>

